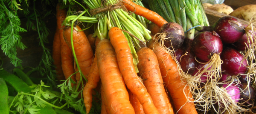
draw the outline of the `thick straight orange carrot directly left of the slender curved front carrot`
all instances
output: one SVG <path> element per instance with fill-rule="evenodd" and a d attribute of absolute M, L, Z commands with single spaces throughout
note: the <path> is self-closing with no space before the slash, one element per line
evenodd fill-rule
<path fill-rule="evenodd" d="M 103 39 L 96 48 L 99 76 L 110 114 L 135 114 L 118 68 L 113 46 L 108 39 Z"/>

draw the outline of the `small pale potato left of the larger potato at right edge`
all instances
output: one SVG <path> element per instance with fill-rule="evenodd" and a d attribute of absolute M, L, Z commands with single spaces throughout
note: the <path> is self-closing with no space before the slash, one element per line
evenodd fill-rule
<path fill-rule="evenodd" d="M 232 11 L 234 11 L 230 6 L 222 4 L 214 4 L 212 6 L 209 6 L 208 9 L 212 9 L 214 11 L 218 11 L 222 14 L 230 14 Z"/>

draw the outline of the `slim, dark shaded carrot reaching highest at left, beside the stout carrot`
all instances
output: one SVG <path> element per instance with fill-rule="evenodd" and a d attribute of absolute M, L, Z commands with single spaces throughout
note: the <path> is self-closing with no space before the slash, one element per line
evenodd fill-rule
<path fill-rule="evenodd" d="M 59 30 L 60 43 L 61 43 L 61 67 L 63 70 L 63 74 L 67 80 L 67 78 L 70 77 L 75 72 L 75 68 L 73 65 L 72 51 L 70 50 L 69 46 L 67 45 L 63 37 L 62 28 L 64 28 L 64 26 L 61 26 L 61 24 L 66 18 L 67 11 L 65 9 L 60 9 L 60 6 L 61 6 L 61 3 L 58 3 L 56 7 L 57 28 Z M 74 75 L 71 76 L 71 79 L 76 82 L 76 77 Z M 73 87 L 73 83 L 71 83 L 71 85 Z"/>

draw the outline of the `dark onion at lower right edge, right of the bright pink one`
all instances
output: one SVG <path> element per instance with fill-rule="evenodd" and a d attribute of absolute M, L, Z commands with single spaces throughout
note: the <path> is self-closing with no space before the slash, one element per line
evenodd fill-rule
<path fill-rule="evenodd" d="M 240 86 L 241 90 L 244 90 L 246 88 L 246 86 L 247 86 L 247 83 L 241 83 L 241 86 Z M 249 90 L 250 90 L 250 92 L 249 92 Z M 249 100 L 249 98 L 250 98 L 250 100 Z M 251 85 L 249 85 L 249 89 L 246 88 L 243 92 L 240 93 L 240 99 L 241 100 L 239 100 L 239 103 L 244 103 L 245 101 L 248 100 L 243 105 L 246 105 L 247 108 L 252 107 L 254 100 L 256 100 L 255 89 Z"/>

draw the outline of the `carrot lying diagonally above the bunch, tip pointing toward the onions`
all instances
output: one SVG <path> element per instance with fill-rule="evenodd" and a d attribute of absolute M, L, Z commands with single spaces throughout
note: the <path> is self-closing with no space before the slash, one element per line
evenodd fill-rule
<path fill-rule="evenodd" d="M 136 3 L 133 3 L 131 0 L 122 0 L 126 9 L 131 12 L 134 12 L 137 15 L 143 16 L 146 19 L 150 20 L 151 22 L 157 24 L 157 26 L 163 26 L 163 24 L 168 23 L 166 20 L 163 19 L 159 14 L 149 9 L 146 9 Z M 136 10 L 135 10 L 136 9 Z"/>

